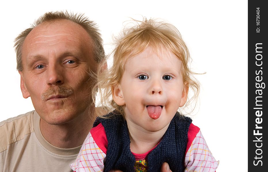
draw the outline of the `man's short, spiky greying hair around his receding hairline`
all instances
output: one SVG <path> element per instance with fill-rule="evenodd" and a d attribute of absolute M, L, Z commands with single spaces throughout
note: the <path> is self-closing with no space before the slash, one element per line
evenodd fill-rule
<path fill-rule="evenodd" d="M 102 38 L 101 34 L 96 26 L 96 24 L 93 21 L 90 21 L 88 17 L 85 17 L 84 14 L 74 14 L 74 13 L 68 13 L 67 11 L 55 11 L 55 12 L 47 12 L 41 17 L 39 17 L 30 28 L 24 30 L 21 32 L 17 38 L 15 38 L 15 51 L 17 56 L 17 70 L 23 71 L 22 66 L 22 47 L 25 38 L 27 35 L 35 28 L 37 25 L 44 23 L 44 22 L 50 22 L 50 21 L 56 21 L 61 19 L 67 19 L 70 21 L 73 21 L 80 26 L 82 26 L 86 32 L 88 32 L 88 35 L 92 38 L 93 42 L 93 58 L 97 63 L 102 62 L 104 59 L 105 53 L 104 48 L 102 45 Z"/>

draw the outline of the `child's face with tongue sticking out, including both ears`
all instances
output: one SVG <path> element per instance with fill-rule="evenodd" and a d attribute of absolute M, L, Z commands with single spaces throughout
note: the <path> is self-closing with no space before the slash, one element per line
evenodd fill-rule
<path fill-rule="evenodd" d="M 129 127 L 150 132 L 167 129 L 178 107 L 187 100 L 181 66 L 171 52 L 157 55 L 151 47 L 127 60 L 113 99 L 124 106 Z"/>

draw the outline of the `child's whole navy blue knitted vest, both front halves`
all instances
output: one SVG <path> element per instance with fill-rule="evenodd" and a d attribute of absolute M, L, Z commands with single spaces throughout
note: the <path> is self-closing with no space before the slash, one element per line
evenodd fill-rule
<path fill-rule="evenodd" d="M 133 172 L 136 160 L 130 151 L 130 138 L 126 120 L 122 116 L 112 113 L 107 114 L 107 116 L 111 116 L 111 118 L 97 118 L 94 122 L 94 126 L 102 123 L 108 140 L 104 172 L 111 169 Z M 160 171 L 164 162 L 169 164 L 173 172 L 184 171 L 183 161 L 191 122 L 190 118 L 181 118 L 178 112 L 176 113 L 160 143 L 147 156 L 148 172 Z"/>

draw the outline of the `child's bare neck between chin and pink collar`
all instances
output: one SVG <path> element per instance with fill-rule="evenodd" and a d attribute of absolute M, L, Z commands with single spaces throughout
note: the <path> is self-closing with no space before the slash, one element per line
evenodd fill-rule
<path fill-rule="evenodd" d="M 136 124 L 128 122 L 130 136 L 130 150 L 136 154 L 143 154 L 153 149 L 162 139 L 169 124 L 156 132 L 150 132 Z"/>

